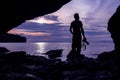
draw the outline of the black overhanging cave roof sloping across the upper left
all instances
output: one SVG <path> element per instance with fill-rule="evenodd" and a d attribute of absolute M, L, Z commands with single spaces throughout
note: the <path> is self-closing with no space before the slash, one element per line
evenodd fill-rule
<path fill-rule="evenodd" d="M 25 20 L 57 11 L 69 1 L 70 0 L 0 1 L 0 33 L 8 32 Z"/>

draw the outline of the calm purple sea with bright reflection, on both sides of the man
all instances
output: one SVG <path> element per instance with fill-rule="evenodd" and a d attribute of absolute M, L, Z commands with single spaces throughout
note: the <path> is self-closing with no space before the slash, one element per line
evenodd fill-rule
<path fill-rule="evenodd" d="M 35 42 L 35 43 L 0 43 L 0 47 L 5 47 L 12 51 L 26 51 L 30 55 L 44 56 L 49 50 L 63 49 L 62 60 L 66 59 L 66 55 L 71 50 L 69 42 Z M 87 57 L 96 58 L 98 54 L 113 50 L 113 44 L 110 42 L 90 43 L 86 50 L 82 49 L 82 54 Z"/>

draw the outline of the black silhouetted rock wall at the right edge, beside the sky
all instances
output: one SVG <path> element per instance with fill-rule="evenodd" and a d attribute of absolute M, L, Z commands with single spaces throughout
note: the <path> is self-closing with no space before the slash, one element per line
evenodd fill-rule
<path fill-rule="evenodd" d="M 108 21 L 108 31 L 114 42 L 114 51 L 120 52 L 120 5 Z"/>

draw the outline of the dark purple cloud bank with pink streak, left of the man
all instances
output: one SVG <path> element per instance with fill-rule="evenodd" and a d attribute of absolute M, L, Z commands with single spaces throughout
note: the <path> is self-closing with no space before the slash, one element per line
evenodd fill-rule
<path fill-rule="evenodd" d="M 25 22 L 17 28 L 9 31 L 9 33 L 25 36 L 28 42 L 71 41 L 69 27 L 60 26 L 59 24 L 39 24 L 35 22 Z"/>

